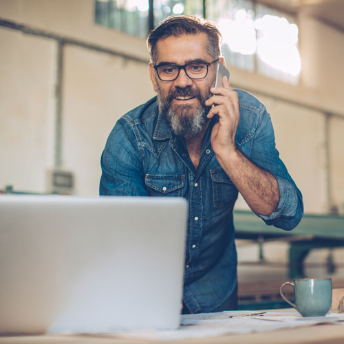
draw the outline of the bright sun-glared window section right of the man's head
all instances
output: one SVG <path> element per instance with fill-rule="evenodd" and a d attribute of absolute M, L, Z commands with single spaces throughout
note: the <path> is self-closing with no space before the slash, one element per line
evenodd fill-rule
<path fill-rule="evenodd" d="M 255 1 L 207 1 L 207 17 L 222 32 L 222 54 L 231 65 L 297 84 L 301 71 L 294 19 Z"/>

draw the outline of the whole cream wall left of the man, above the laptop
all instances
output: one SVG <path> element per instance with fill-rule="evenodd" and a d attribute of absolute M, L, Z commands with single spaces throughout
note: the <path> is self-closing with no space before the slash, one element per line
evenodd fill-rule
<path fill-rule="evenodd" d="M 135 62 L 63 45 L 61 147 L 55 140 L 58 41 L 0 26 L 0 189 L 44 193 L 47 171 L 75 175 L 76 195 L 98 195 L 100 154 L 116 120 L 151 98 L 145 42 L 94 23 L 93 1 L 0 1 L 1 19 L 116 50 Z M 77 15 L 76 15 L 77 14 Z M 124 101 L 123 101 L 124 100 Z"/>

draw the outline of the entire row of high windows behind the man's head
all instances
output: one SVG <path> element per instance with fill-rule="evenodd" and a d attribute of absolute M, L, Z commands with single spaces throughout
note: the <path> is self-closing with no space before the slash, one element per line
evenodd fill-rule
<path fill-rule="evenodd" d="M 146 38 L 170 15 L 198 14 L 222 32 L 228 65 L 297 84 L 301 70 L 298 28 L 291 15 L 253 0 L 96 0 L 96 23 Z M 149 8 L 153 3 L 153 8 Z"/>

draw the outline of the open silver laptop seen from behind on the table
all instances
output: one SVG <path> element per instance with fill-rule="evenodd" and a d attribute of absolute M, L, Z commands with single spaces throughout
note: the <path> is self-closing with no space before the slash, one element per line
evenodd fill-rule
<path fill-rule="evenodd" d="M 0 334 L 173 330 L 187 201 L 0 196 Z"/>

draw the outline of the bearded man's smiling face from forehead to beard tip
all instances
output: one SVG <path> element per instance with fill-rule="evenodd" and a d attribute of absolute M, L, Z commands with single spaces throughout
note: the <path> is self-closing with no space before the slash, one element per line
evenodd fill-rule
<path fill-rule="evenodd" d="M 160 63 L 185 65 L 193 61 L 212 62 L 208 54 L 206 34 L 187 34 L 170 36 L 157 43 Z M 149 74 L 155 92 L 157 92 L 159 109 L 176 135 L 185 137 L 197 136 L 206 125 L 209 108 L 204 102 L 212 96 L 210 88 L 215 84 L 216 64 L 208 67 L 208 74 L 202 79 L 191 79 L 184 69 L 180 69 L 178 78 L 173 81 L 162 81 L 149 65 Z"/>

